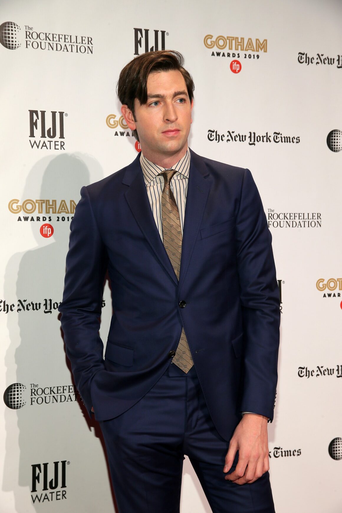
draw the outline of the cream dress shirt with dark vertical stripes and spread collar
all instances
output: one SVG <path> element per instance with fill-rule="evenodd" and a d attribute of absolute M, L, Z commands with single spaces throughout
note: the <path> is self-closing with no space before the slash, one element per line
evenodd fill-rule
<path fill-rule="evenodd" d="M 165 171 L 166 168 L 157 166 L 146 159 L 143 152 L 140 154 L 140 166 L 142 167 L 144 180 L 147 190 L 148 199 L 151 205 L 153 218 L 157 229 L 159 231 L 160 238 L 163 241 L 163 223 L 162 223 L 162 192 L 164 189 L 164 178 L 159 176 L 159 173 Z M 171 180 L 170 188 L 173 192 L 176 200 L 180 229 L 184 226 L 184 215 L 185 215 L 185 203 L 187 200 L 188 180 L 189 180 L 189 169 L 190 169 L 190 151 L 189 148 L 182 159 L 172 169 L 177 171 Z"/>

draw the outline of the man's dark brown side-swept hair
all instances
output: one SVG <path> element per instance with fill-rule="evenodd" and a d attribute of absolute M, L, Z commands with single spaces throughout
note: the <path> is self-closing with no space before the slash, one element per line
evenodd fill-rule
<path fill-rule="evenodd" d="M 185 80 L 190 102 L 195 89 L 190 73 L 183 67 L 184 57 L 175 50 L 160 50 L 142 53 L 130 61 L 121 71 L 116 85 L 116 93 L 123 105 L 134 113 L 134 100 L 137 98 L 140 105 L 147 103 L 147 78 L 150 73 L 157 71 L 177 70 L 182 73 Z M 139 141 L 136 130 L 133 135 Z"/>

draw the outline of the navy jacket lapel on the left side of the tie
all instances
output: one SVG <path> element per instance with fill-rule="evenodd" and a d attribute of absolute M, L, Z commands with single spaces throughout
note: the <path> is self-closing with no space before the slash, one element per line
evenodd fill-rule
<path fill-rule="evenodd" d="M 170 275 L 172 281 L 177 284 L 177 277 L 153 218 L 144 175 L 139 162 L 139 155 L 136 157 L 135 161 L 127 167 L 123 183 L 129 186 L 125 192 L 125 198 L 134 215 L 135 221 L 140 230 L 144 233 L 160 264 L 162 264 Z"/>

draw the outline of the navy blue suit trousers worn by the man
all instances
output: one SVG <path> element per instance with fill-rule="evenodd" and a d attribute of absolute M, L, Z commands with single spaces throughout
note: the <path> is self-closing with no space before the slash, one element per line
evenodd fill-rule
<path fill-rule="evenodd" d="M 171 364 L 140 401 L 100 426 L 119 513 L 179 513 L 184 455 L 214 513 L 274 513 L 268 472 L 252 484 L 225 480 L 229 443 L 215 429 L 194 367 L 185 374 Z"/>

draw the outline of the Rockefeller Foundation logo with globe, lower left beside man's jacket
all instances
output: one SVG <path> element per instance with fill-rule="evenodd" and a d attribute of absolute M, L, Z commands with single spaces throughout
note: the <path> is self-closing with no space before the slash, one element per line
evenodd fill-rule
<path fill-rule="evenodd" d="M 25 406 L 27 401 L 30 406 L 70 403 L 77 401 L 77 395 L 78 391 L 74 385 L 40 387 L 36 383 L 30 383 L 28 391 L 23 383 L 12 383 L 4 392 L 4 403 L 11 410 L 17 410 Z"/>

